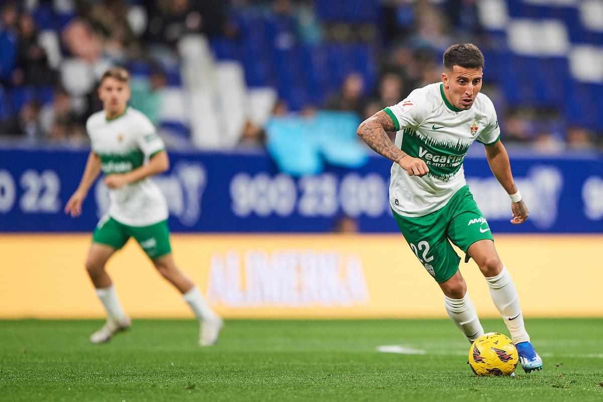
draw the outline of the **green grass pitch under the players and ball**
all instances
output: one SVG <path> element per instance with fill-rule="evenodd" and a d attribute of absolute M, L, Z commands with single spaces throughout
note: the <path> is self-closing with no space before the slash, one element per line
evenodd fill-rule
<path fill-rule="evenodd" d="M 507 333 L 500 319 L 482 324 Z M 0 321 L 0 401 L 603 400 L 603 319 L 528 319 L 545 367 L 515 378 L 473 375 L 447 319 L 230 320 L 209 348 L 192 320 L 134 320 L 89 344 L 100 325 Z"/>

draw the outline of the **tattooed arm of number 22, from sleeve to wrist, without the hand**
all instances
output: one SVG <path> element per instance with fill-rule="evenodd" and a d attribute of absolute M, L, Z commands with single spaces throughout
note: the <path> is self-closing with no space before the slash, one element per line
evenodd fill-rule
<path fill-rule="evenodd" d="M 364 121 L 358 128 L 358 135 L 362 137 L 375 152 L 386 158 L 398 162 L 406 153 L 394 145 L 385 131 L 394 131 L 396 127 L 390 116 L 380 111 L 370 119 Z"/>

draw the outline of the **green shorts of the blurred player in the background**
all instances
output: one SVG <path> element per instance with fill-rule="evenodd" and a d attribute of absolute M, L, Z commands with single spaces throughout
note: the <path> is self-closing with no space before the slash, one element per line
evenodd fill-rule
<path fill-rule="evenodd" d="M 168 221 L 157 222 L 149 226 L 129 226 L 110 216 L 102 218 L 92 234 L 92 241 L 119 250 L 134 237 L 142 250 L 151 260 L 165 256 L 172 251 L 169 245 Z"/>

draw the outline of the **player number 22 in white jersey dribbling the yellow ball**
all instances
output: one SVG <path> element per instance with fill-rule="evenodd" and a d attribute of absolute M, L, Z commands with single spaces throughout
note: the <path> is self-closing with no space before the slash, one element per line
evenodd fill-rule
<path fill-rule="evenodd" d="M 484 56 L 470 43 L 444 52 L 442 82 L 415 89 L 399 104 L 386 107 L 358 128 L 358 135 L 392 160 L 390 204 L 411 250 L 444 292 L 444 304 L 456 326 L 472 342 L 484 330 L 458 269 L 455 243 L 475 260 L 490 295 L 507 324 L 526 372 L 542 368 L 529 342 L 519 297 L 500 261 L 488 222 L 473 200 L 463 160 L 474 140 L 484 144 L 494 177 L 509 194 L 511 223 L 522 224 L 528 209 L 515 186 L 509 157 L 500 142 L 496 111 L 479 93 Z M 395 144 L 385 133 L 397 131 Z"/>

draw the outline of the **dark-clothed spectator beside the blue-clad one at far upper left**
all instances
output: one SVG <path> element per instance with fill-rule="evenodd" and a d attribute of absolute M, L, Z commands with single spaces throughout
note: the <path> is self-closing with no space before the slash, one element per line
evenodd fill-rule
<path fill-rule="evenodd" d="M 46 50 L 40 45 L 36 22 L 31 14 L 19 17 L 19 48 L 14 85 L 48 86 L 57 81 L 57 72 L 48 64 Z"/>

